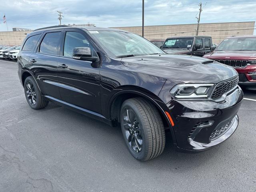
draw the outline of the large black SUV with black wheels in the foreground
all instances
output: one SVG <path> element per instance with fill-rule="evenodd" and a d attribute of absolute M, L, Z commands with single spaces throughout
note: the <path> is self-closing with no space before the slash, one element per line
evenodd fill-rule
<path fill-rule="evenodd" d="M 17 62 L 31 108 L 54 101 L 121 125 L 138 160 L 160 155 L 170 139 L 167 131 L 178 148 L 200 151 L 222 143 L 238 126 L 243 92 L 236 70 L 205 58 L 165 54 L 134 33 L 38 29 L 26 36 Z"/>

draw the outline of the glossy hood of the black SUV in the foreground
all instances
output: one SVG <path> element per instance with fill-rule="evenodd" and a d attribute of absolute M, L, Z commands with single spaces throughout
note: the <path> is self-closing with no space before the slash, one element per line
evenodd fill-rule
<path fill-rule="evenodd" d="M 189 55 L 135 56 L 122 58 L 121 62 L 134 70 L 142 70 L 177 83 L 218 83 L 237 75 L 230 66 Z"/>

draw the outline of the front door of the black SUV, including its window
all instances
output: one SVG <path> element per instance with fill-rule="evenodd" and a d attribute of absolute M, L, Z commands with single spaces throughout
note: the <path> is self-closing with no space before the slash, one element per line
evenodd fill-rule
<path fill-rule="evenodd" d="M 90 47 L 93 56 L 98 56 L 94 46 L 79 30 L 65 30 L 61 53 L 58 59 L 60 95 L 64 102 L 101 113 L 100 68 L 90 61 L 72 58 L 73 49 Z"/>

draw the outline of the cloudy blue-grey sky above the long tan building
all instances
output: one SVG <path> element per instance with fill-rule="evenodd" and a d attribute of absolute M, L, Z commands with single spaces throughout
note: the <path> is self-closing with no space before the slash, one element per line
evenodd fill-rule
<path fill-rule="evenodd" d="M 145 0 L 145 25 L 196 23 L 198 0 Z M 256 20 L 256 0 L 202 0 L 201 23 Z M 0 31 L 62 24 L 141 26 L 142 0 L 0 0 Z"/>

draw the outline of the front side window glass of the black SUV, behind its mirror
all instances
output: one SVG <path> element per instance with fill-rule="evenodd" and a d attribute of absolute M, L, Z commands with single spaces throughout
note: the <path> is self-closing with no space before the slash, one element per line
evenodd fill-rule
<path fill-rule="evenodd" d="M 63 56 L 72 58 L 73 50 L 77 47 L 89 47 L 92 50 L 92 56 L 98 56 L 86 37 L 78 32 L 66 32 Z"/>

